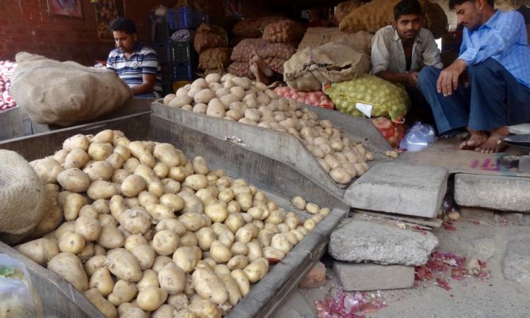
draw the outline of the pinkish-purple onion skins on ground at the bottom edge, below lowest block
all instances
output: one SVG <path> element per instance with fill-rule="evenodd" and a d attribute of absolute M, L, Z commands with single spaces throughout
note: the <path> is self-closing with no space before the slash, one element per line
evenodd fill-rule
<path fill-rule="evenodd" d="M 335 295 L 330 292 L 324 300 L 315 302 L 318 318 L 363 318 L 365 314 L 371 314 L 384 307 L 387 305 L 379 295 L 344 293 L 342 288 L 338 288 Z"/>

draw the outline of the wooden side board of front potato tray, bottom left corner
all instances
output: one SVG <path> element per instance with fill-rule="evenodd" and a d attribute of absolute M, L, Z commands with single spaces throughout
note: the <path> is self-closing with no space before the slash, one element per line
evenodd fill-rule
<path fill-rule="evenodd" d="M 42 301 L 45 317 L 104 318 L 66 279 L 0 242 L 0 253 L 21 261 L 30 272 L 33 287 Z"/>

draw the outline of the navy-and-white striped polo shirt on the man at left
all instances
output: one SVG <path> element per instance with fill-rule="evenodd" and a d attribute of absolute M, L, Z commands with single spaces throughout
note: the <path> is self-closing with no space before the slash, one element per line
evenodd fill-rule
<path fill-rule="evenodd" d="M 162 96 L 162 78 L 160 77 L 160 64 L 158 55 L 151 47 L 137 42 L 134 53 L 129 59 L 120 49 L 113 49 L 107 59 L 107 69 L 116 72 L 129 87 L 143 84 L 143 74 L 156 76 L 153 94 L 155 97 Z"/>

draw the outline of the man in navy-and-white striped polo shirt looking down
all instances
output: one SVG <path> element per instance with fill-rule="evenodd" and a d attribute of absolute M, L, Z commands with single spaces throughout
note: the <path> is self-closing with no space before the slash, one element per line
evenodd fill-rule
<path fill-rule="evenodd" d="M 115 71 L 136 98 L 159 98 L 162 81 L 156 52 L 137 42 L 136 25 L 131 19 L 117 18 L 110 28 L 117 48 L 109 54 L 107 69 Z"/>

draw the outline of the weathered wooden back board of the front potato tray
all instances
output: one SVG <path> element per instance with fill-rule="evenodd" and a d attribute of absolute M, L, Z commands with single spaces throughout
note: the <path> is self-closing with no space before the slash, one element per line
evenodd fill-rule
<path fill-rule="evenodd" d="M 151 138 L 170 142 L 182 149 L 188 158 L 201 155 L 212 167 L 228 175 L 241 177 L 258 188 L 285 198 L 304 196 L 319 206 L 336 206 L 340 194 L 326 191 L 290 165 L 256 153 L 248 148 L 181 126 L 156 114 L 151 114 Z"/>

